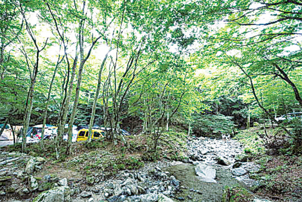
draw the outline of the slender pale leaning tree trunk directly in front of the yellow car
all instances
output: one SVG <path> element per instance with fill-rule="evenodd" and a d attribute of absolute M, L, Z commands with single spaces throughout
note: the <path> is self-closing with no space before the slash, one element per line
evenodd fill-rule
<path fill-rule="evenodd" d="M 108 53 L 111 51 L 111 49 L 108 51 Z M 103 59 L 103 62 L 101 64 L 100 70 L 98 72 L 98 86 L 96 89 L 96 93 L 95 93 L 95 98 L 93 100 L 93 105 L 92 105 L 92 112 L 91 112 L 91 117 L 90 117 L 90 122 L 89 122 L 89 130 L 88 130 L 88 142 L 91 142 L 91 137 L 92 137 L 92 126 L 94 123 L 94 119 L 95 119 L 95 107 L 96 104 L 98 102 L 98 94 L 100 93 L 100 88 L 101 88 L 101 81 L 102 81 L 102 71 L 106 62 L 106 59 L 108 57 L 108 53 L 105 55 L 105 58 Z"/>

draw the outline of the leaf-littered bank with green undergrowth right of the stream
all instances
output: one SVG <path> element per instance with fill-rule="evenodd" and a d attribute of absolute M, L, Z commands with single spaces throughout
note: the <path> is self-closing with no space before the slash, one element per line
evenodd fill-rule
<path fill-rule="evenodd" d="M 257 126 L 240 131 L 234 139 L 243 143 L 249 159 L 261 166 L 249 174 L 260 182 L 253 192 L 276 201 L 302 201 L 301 148 L 292 145 L 294 140 L 285 130 L 269 126 L 266 136 L 264 127 Z"/>

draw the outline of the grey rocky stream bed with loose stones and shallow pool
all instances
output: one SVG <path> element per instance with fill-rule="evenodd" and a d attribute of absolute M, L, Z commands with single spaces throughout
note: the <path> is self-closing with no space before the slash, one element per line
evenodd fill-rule
<path fill-rule="evenodd" d="M 162 160 L 148 163 L 136 171 L 120 171 L 108 180 L 104 180 L 101 173 L 95 173 L 85 180 L 45 175 L 38 179 L 39 183 L 31 173 L 34 169 L 41 169 L 43 159 L 2 152 L 0 197 L 2 201 L 16 202 L 12 198 L 31 201 L 20 196 L 29 196 L 34 191 L 43 191 L 52 186 L 55 188 L 44 191 L 34 201 L 216 202 L 222 200 L 225 186 L 237 184 L 246 188 L 259 186 L 259 182 L 248 177 L 248 174 L 256 172 L 259 166 L 248 162 L 247 156 L 242 152 L 243 147 L 234 140 L 189 138 L 187 152 L 179 159 L 180 161 Z M 25 170 L 25 165 L 23 170 L 20 170 L 13 163 L 20 159 L 27 159 Z M 10 176 L 18 180 L 11 182 Z M 27 181 L 25 187 L 19 186 L 22 180 Z M 83 183 L 89 186 L 83 187 Z"/>

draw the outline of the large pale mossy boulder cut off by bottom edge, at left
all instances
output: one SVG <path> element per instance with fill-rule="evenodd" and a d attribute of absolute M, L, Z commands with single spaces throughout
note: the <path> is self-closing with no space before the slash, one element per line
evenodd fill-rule
<path fill-rule="evenodd" d="M 55 187 L 48 191 L 42 192 L 33 202 L 69 202 L 70 200 L 70 188 L 69 187 Z"/>

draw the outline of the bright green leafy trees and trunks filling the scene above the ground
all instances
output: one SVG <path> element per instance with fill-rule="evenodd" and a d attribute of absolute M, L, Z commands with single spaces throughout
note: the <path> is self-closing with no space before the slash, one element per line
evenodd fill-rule
<path fill-rule="evenodd" d="M 74 124 L 156 143 L 169 124 L 231 133 L 301 111 L 300 1 L 0 3 L 0 118 L 23 149 L 41 123 L 57 146 L 69 124 L 70 153 Z"/>

